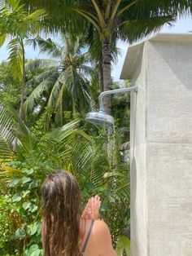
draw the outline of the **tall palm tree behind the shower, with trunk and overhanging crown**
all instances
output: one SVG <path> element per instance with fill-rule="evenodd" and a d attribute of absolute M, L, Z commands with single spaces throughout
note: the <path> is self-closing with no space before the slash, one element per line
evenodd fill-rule
<path fill-rule="evenodd" d="M 111 89 L 111 46 L 116 39 L 136 41 L 157 32 L 165 23 L 177 19 L 178 14 L 189 13 L 189 0 L 85 0 L 85 1 L 25 1 L 31 10 L 45 7 L 51 16 L 50 31 L 59 29 L 86 30 L 89 24 L 98 33 L 101 42 L 101 79 L 103 90 Z M 52 10 L 55 11 L 52 11 Z M 79 14 L 79 15 L 77 15 Z M 81 19 L 85 18 L 85 22 Z M 63 17 L 62 20 L 61 17 Z M 61 24 L 62 23 L 62 24 Z M 79 23 L 79 25 L 78 25 Z M 86 26 L 86 27 L 85 27 Z M 82 30 L 81 30 L 82 31 Z M 102 86 L 100 86 L 102 88 Z M 110 99 L 105 97 L 105 110 L 110 113 Z"/>

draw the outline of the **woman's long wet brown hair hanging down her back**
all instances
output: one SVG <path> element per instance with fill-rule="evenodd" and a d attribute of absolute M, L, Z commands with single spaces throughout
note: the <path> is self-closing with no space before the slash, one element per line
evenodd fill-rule
<path fill-rule="evenodd" d="M 54 170 L 42 184 L 41 199 L 44 255 L 79 255 L 80 191 L 76 179 L 65 170 Z"/>

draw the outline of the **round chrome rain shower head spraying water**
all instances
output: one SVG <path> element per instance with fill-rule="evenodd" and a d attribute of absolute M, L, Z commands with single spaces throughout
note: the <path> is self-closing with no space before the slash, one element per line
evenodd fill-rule
<path fill-rule="evenodd" d="M 89 112 L 86 115 L 85 120 L 99 125 L 114 125 L 114 118 L 104 113 L 102 109 L 99 109 L 99 111 Z"/>

